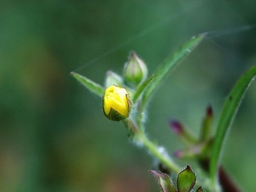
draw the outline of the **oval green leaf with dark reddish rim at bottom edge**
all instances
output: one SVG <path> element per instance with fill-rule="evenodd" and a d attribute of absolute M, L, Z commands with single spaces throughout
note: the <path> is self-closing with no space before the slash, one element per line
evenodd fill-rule
<path fill-rule="evenodd" d="M 189 192 L 196 184 L 196 174 L 191 170 L 190 166 L 181 171 L 177 178 L 178 192 Z"/>

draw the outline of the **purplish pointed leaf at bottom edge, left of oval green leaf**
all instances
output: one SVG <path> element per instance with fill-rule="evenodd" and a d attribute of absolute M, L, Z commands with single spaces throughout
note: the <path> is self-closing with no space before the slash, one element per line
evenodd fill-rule
<path fill-rule="evenodd" d="M 177 192 L 176 188 L 174 187 L 174 183 L 171 181 L 171 178 L 168 175 L 153 170 L 151 170 L 151 173 L 156 178 L 156 181 L 159 183 L 159 186 L 163 192 Z"/>

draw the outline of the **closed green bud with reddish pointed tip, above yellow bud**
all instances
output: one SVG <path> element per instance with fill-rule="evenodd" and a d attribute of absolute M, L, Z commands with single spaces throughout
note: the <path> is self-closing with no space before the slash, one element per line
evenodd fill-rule
<path fill-rule="evenodd" d="M 144 61 L 132 51 L 129 55 L 129 60 L 124 65 L 124 79 L 127 84 L 132 86 L 139 85 L 140 82 L 146 79 L 147 72 Z"/>

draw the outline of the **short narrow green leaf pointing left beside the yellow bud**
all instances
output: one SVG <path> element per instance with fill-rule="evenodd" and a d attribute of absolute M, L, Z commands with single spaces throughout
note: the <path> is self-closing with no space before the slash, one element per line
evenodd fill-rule
<path fill-rule="evenodd" d="M 88 90 L 95 93 L 96 95 L 102 97 L 104 95 L 105 89 L 101 85 L 97 84 L 96 82 L 93 82 L 92 80 L 85 78 L 82 75 L 79 75 L 78 73 L 71 72 L 71 75 L 82 83 Z"/>

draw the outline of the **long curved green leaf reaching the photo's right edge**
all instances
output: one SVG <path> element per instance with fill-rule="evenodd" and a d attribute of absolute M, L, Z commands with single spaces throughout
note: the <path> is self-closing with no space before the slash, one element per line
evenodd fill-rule
<path fill-rule="evenodd" d="M 218 167 L 220 164 L 220 157 L 223 150 L 223 143 L 228 136 L 229 129 L 238 112 L 238 108 L 242 101 L 247 88 L 256 75 L 256 66 L 252 67 L 235 83 L 233 89 L 228 95 L 223 105 L 220 119 L 217 126 L 217 131 L 213 141 L 212 156 L 210 159 L 210 178 L 213 183 L 217 182 Z"/>

